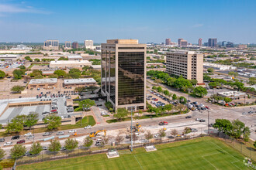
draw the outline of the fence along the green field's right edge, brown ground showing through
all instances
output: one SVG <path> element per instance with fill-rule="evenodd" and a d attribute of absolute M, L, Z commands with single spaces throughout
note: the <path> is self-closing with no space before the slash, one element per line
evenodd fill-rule
<path fill-rule="evenodd" d="M 244 141 L 237 141 L 235 138 L 231 138 L 228 135 L 223 133 L 220 134 L 211 134 L 211 137 L 219 138 L 225 141 L 227 145 L 234 148 L 237 151 L 240 151 L 243 155 L 251 158 L 254 162 L 256 162 L 256 153 L 255 149 L 253 148 L 252 141 L 244 142 Z"/>

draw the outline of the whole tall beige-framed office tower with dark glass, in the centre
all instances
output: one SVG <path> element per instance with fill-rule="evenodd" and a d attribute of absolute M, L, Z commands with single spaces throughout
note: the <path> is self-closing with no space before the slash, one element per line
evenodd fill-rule
<path fill-rule="evenodd" d="M 146 109 L 147 45 L 137 39 L 102 43 L 102 95 L 115 108 Z"/>

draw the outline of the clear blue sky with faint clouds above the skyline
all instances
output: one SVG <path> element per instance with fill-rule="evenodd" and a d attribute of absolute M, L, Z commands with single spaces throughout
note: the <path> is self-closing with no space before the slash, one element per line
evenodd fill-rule
<path fill-rule="evenodd" d="M 256 43 L 255 0 L 0 0 L 0 42 Z"/>

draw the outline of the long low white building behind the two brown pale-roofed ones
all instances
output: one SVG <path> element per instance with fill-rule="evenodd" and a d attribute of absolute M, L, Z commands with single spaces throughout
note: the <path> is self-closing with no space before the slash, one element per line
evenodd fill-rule
<path fill-rule="evenodd" d="M 84 66 L 92 66 L 92 63 L 88 60 L 59 60 L 51 61 L 49 66 L 58 69 L 77 68 L 81 70 Z"/>

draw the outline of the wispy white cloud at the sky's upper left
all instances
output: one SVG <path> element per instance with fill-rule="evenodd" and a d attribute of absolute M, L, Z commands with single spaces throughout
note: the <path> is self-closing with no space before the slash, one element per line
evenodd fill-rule
<path fill-rule="evenodd" d="M 19 6 L 19 5 L 6 5 L 0 4 L 0 16 L 3 13 L 37 13 L 37 14 L 50 14 L 51 12 L 43 11 L 33 8 L 32 6 Z"/>

